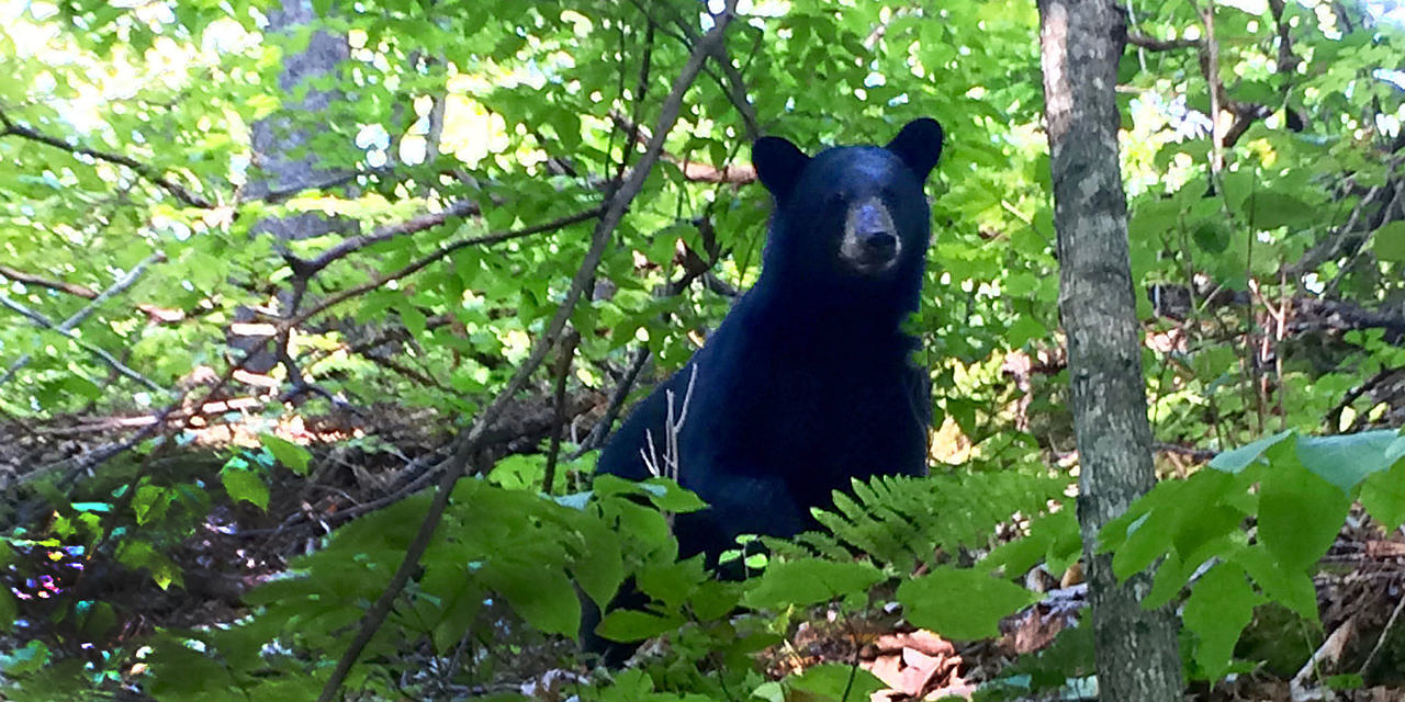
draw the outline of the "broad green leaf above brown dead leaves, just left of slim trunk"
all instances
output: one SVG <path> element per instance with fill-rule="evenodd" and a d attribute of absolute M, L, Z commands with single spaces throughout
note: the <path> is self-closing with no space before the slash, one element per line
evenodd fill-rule
<path fill-rule="evenodd" d="M 898 585 L 909 622 L 958 640 L 1000 633 L 1000 619 L 1038 601 L 1038 595 L 968 569 L 940 566 Z"/>

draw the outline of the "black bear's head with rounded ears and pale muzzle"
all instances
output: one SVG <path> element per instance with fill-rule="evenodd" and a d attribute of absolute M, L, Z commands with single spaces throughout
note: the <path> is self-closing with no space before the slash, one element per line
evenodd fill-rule
<path fill-rule="evenodd" d="M 923 184 L 941 140 L 930 118 L 909 122 L 887 146 L 816 156 L 777 136 L 757 139 L 756 176 L 776 198 L 760 284 L 913 307 L 932 236 Z"/>

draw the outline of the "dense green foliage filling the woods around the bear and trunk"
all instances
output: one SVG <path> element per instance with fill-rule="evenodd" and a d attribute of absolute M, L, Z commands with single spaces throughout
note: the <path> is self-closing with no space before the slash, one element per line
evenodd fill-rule
<path fill-rule="evenodd" d="M 1189 670 L 1208 681 L 1242 670 L 1234 642 L 1263 602 L 1321 640 L 1311 574 L 1353 500 L 1387 529 L 1405 519 L 1405 32 L 1390 7 L 1128 4 L 1117 90 L 1149 413 L 1159 466 L 1194 475 L 1106 546 L 1125 573 L 1159 563 L 1158 600 L 1189 598 Z M 978 639 L 1037 600 L 1014 583 L 1037 563 L 1058 576 L 1078 543 L 1058 508 L 1076 456 L 1034 3 L 743 3 L 673 125 L 666 95 L 717 21 L 700 10 L 0 4 L 0 411 L 28 437 L 15 446 L 42 448 L 0 449 L 6 695 L 315 696 L 414 539 L 427 466 L 506 389 L 549 421 L 488 427 L 499 444 L 347 688 L 504 692 L 506 657 L 570 656 L 576 587 L 604 601 L 627 576 L 658 608 L 606 626 L 673 633 L 672 650 L 580 684 L 590 699 L 851 698 L 873 681 L 849 665 L 777 681 L 749 656 L 811 605 L 865 618 L 896 600 L 917 626 Z M 632 396 L 681 365 L 756 279 L 770 202 L 753 138 L 812 152 L 923 115 L 948 133 L 910 322 L 941 468 L 860 486 L 822 518 L 833 534 L 714 581 L 672 557 L 667 514 L 690 496 L 582 493 L 589 423 L 641 366 Z M 635 167 L 642 190 L 582 268 Z M 91 417 L 131 421 L 51 445 Z M 303 431 L 315 417 L 339 430 Z M 405 424 L 427 431 L 423 455 L 393 445 L 386 427 Z M 223 425 L 233 442 L 191 451 Z M 1311 438 L 1371 428 L 1388 431 Z M 355 462 L 395 469 L 370 482 Z M 362 504 L 308 497 L 340 490 L 334 473 L 374 487 Z M 183 555 L 240 519 L 296 522 L 308 553 L 204 618 L 114 594 L 200 591 Z M 1031 536 L 992 552 L 1009 524 Z M 953 591 L 968 602 L 943 607 Z"/>

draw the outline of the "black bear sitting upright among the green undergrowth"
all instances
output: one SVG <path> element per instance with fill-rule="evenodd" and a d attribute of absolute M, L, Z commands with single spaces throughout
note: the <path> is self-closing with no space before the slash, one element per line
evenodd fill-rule
<path fill-rule="evenodd" d="M 813 157 L 780 138 L 752 147 L 776 198 L 760 279 L 639 403 L 597 468 L 676 477 L 708 503 L 677 517 L 680 556 L 715 564 L 740 534 L 811 526 L 811 508 L 854 477 L 926 473 L 927 382 L 902 326 L 922 289 L 923 184 L 941 142 L 923 118 L 887 146 Z"/>

